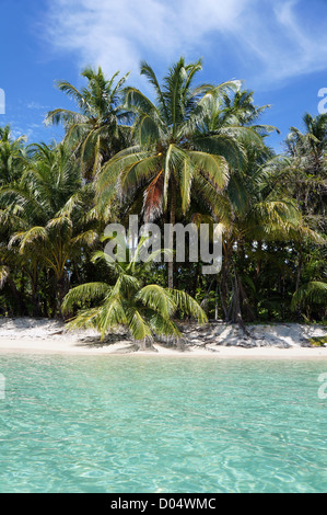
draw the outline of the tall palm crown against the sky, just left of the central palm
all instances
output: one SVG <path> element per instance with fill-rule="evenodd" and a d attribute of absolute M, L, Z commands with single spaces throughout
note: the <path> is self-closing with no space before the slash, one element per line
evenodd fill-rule
<path fill-rule="evenodd" d="M 103 162 L 130 145 L 130 128 L 124 125 L 130 115 L 120 107 L 128 73 L 115 83 L 118 75 L 107 80 L 101 67 L 97 71 L 85 68 L 81 76 L 87 80 L 87 85 L 81 91 L 67 81 L 58 81 L 58 89 L 77 103 L 79 111 L 57 108 L 46 118 L 47 124 L 63 124 L 66 140 L 80 157 L 87 180 Z"/>

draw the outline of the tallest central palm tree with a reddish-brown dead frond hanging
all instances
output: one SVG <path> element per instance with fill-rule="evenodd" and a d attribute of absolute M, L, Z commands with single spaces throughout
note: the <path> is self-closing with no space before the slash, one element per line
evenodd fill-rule
<path fill-rule="evenodd" d="M 136 88 L 126 89 L 126 107 L 136 113 L 137 145 L 117 153 L 98 173 L 100 209 L 106 210 L 117 193 L 120 198 L 143 194 L 144 220 L 153 221 L 168 211 L 174 225 L 177 205 L 182 215 L 188 210 L 192 188 L 199 191 L 203 202 L 210 203 L 212 193 L 220 198 L 232 167 L 245 159 L 244 149 L 233 135 L 202 134 L 198 127 L 207 103 L 237 90 L 240 82 L 194 88 L 200 70 L 200 60 L 187 65 L 180 58 L 160 85 L 153 69 L 142 62 L 141 75 L 154 87 L 156 100 L 153 103 Z M 222 216 L 223 206 L 222 196 L 221 202 L 211 203 L 217 216 Z M 173 287 L 173 262 L 168 263 L 168 287 Z"/>

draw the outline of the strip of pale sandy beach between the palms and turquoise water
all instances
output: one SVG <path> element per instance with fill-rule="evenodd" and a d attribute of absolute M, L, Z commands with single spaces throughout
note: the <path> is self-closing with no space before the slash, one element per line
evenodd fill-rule
<path fill-rule="evenodd" d="M 178 350 L 155 343 L 154 352 L 135 352 L 128 335 L 109 335 L 101 342 L 92 331 L 68 332 L 62 322 L 31 318 L 0 319 L 0 353 L 176 356 L 262 359 L 327 359 L 327 346 L 313 347 L 313 336 L 326 336 L 319 325 L 249 325 L 249 336 L 237 327 L 214 323 L 185 325 L 185 343 Z"/>

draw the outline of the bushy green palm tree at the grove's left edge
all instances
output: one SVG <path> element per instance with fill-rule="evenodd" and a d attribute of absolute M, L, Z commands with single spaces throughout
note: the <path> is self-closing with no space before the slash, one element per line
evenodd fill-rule
<path fill-rule="evenodd" d="M 82 185 L 80 169 L 65 144 L 55 148 L 36 145 L 30 153 L 31 164 L 20 183 L 0 191 L 0 203 L 7 206 L 1 217 L 3 221 L 14 218 L 9 249 L 16 249 L 24 258 L 34 306 L 39 274 L 46 268 L 52 271 L 56 279 L 55 310 L 60 312 L 69 283 L 69 263 L 83 247 L 97 241 L 97 231 L 85 222 L 92 185 Z"/>

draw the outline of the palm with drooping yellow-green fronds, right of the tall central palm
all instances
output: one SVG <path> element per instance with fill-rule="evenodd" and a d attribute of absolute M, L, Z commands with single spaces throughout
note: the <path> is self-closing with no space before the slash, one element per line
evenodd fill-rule
<path fill-rule="evenodd" d="M 245 287 L 245 281 L 250 282 L 250 278 L 236 264 L 245 245 L 261 250 L 271 242 L 288 241 L 291 244 L 304 239 L 322 243 L 319 234 L 304 222 L 294 202 L 278 186 L 277 178 L 287 164 L 288 161 L 278 156 L 262 164 L 257 159 L 248 163 L 245 171 L 234 174 L 226 188 L 231 216 L 223 222 L 221 301 L 225 320 L 243 327 L 243 305 L 253 317 Z"/>

